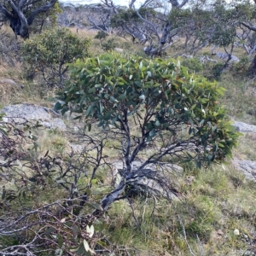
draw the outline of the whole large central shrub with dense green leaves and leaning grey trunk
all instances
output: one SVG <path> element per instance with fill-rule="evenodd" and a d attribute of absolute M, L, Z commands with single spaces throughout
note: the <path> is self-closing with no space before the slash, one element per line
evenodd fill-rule
<path fill-rule="evenodd" d="M 108 140 L 119 141 L 113 148 L 125 163 L 116 187 L 101 201 L 104 210 L 124 191 L 126 196 L 134 189 L 158 194 L 140 183 L 144 177 L 153 178 L 170 199 L 175 170 L 164 159 L 171 164 L 195 161 L 201 167 L 223 160 L 236 145 L 238 134 L 218 105 L 224 89 L 189 74 L 179 61 L 113 53 L 76 61 L 71 71 L 72 80 L 55 109 L 80 113 L 77 118 L 85 119 L 89 131 L 97 123 Z M 146 157 L 142 151 L 149 142 L 152 151 Z M 133 168 L 141 154 L 143 162 Z M 152 164 L 159 167 L 148 172 Z"/>

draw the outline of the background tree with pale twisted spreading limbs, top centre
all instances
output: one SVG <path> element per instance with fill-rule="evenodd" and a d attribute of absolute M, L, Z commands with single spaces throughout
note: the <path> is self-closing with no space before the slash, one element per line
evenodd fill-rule
<path fill-rule="evenodd" d="M 168 19 L 171 9 L 181 9 L 189 0 L 179 3 L 177 0 L 150 1 L 146 0 L 139 8 L 135 7 L 136 0 L 131 1 L 126 9 L 116 9 L 110 1 L 104 3 L 115 10 L 111 26 L 121 29 L 131 35 L 133 41 L 148 42 L 144 52 L 149 56 L 162 55 L 163 51 L 172 45 L 172 38 L 178 30 L 173 29 L 172 20 Z"/>

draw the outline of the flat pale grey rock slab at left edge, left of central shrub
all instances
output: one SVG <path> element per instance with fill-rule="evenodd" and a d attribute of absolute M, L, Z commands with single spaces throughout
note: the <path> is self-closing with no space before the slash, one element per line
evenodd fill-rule
<path fill-rule="evenodd" d="M 59 129 L 60 131 L 66 131 L 67 126 L 64 124 L 62 119 L 53 118 L 52 114 L 49 113 L 42 106 L 23 103 L 16 105 L 9 105 L 1 110 L 1 113 L 5 113 L 3 120 L 5 122 L 17 122 L 25 123 L 27 121 L 38 121 L 41 125 L 44 125 L 50 129 Z"/>

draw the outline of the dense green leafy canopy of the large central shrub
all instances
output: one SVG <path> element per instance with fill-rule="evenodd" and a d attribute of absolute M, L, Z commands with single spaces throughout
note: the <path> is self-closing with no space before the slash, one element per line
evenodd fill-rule
<path fill-rule="evenodd" d="M 96 120 L 103 128 L 121 129 L 123 119 L 136 115 L 143 119 L 140 129 L 148 140 L 182 127 L 191 141 L 211 145 L 211 160 L 222 159 L 236 145 L 239 134 L 218 104 L 224 89 L 189 74 L 179 61 L 113 53 L 78 60 L 70 71 L 71 81 L 55 109 L 81 113 L 89 128 Z"/>

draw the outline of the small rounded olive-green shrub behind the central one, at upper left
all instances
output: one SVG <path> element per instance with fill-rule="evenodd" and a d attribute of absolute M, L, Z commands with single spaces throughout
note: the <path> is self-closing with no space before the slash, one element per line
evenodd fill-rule
<path fill-rule="evenodd" d="M 68 29 L 56 28 L 26 40 L 21 55 L 27 73 L 43 77 L 48 86 L 62 88 L 67 63 L 88 56 L 89 45 L 88 39 L 81 39 Z"/>

